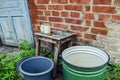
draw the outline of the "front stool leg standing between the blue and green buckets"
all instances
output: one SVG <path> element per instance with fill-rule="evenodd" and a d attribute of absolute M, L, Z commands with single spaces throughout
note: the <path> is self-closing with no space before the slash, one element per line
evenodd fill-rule
<path fill-rule="evenodd" d="M 60 42 L 58 44 L 55 44 L 55 53 L 54 53 L 54 69 L 53 69 L 53 79 L 56 77 L 57 73 L 57 67 L 58 67 L 58 56 L 60 52 Z"/>

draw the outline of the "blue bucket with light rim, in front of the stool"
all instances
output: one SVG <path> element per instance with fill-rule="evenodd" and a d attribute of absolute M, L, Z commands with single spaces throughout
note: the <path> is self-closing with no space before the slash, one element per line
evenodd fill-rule
<path fill-rule="evenodd" d="M 51 80 L 53 67 L 54 63 L 49 58 L 34 56 L 22 60 L 18 65 L 18 71 L 24 80 Z"/>

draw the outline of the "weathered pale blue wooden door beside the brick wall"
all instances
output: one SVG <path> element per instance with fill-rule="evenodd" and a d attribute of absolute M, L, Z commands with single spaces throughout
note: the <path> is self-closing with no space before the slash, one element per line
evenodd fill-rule
<path fill-rule="evenodd" d="M 27 0 L 0 0 L 0 25 L 5 44 L 34 43 Z"/>

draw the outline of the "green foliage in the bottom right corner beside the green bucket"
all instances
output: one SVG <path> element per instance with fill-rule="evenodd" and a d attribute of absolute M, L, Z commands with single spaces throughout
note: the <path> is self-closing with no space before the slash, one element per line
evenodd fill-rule
<path fill-rule="evenodd" d="M 105 80 L 120 80 L 120 64 L 112 63 L 113 70 L 107 72 Z"/>

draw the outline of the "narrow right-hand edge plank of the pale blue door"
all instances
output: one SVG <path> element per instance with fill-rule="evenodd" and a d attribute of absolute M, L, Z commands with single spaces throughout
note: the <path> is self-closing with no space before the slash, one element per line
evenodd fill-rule
<path fill-rule="evenodd" d="M 30 13 L 29 13 L 29 8 L 28 8 L 28 0 L 18 0 L 19 3 L 23 3 L 20 4 L 19 6 L 22 8 L 24 14 L 24 29 L 25 31 L 25 36 L 27 38 L 27 40 L 30 43 L 34 44 L 34 39 L 33 39 L 33 30 L 32 30 L 32 24 L 31 24 L 31 19 L 30 19 Z M 28 36 L 29 35 L 29 36 Z"/>

